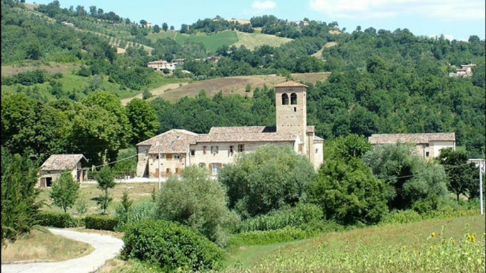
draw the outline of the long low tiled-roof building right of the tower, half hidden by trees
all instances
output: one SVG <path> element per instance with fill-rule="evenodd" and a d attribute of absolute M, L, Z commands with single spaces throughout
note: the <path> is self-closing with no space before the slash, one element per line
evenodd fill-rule
<path fill-rule="evenodd" d="M 368 142 L 373 145 L 383 144 L 414 144 L 415 153 L 424 158 L 434 158 L 441 154 L 442 149 L 456 150 L 455 133 L 426 134 L 372 134 Z"/>

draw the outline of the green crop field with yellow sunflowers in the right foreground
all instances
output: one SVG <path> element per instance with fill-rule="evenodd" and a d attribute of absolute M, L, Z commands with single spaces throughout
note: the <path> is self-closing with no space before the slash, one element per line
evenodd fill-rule
<path fill-rule="evenodd" d="M 484 232 L 477 215 L 327 233 L 239 247 L 225 272 L 485 272 Z"/>

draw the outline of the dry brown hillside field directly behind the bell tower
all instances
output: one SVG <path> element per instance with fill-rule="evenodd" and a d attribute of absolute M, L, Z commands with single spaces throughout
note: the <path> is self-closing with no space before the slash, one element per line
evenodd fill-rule
<path fill-rule="evenodd" d="M 292 74 L 294 80 L 305 81 L 310 83 L 316 83 L 317 81 L 325 81 L 329 77 L 330 73 L 320 72 L 320 73 L 305 73 L 305 74 Z M 194 83 L 189 83 L 185 86 L 179 88 L 171 89 L 160 94 L 158 97 L 164 100 L 177 101 L 183 97 L 195 97 L 204 90 L 208 96 L 213 97 L 216 93 L 222 91 L 224 95 L 253 95 L 252 92 L 245 92 L 247 85 L 254 88 L 263 88 L 264 85 L 273 87 L 277 83 L 283 83 L 286 78 L 283 76 L 273 75 L 255 75 L 255 76 L 237 76 L 237 77 L 226 77 L 220 79 L 211 79 L 206 81 L 197 81 Z M 149 100 L 154 100 L 156 97 L 150 98 Z"/>

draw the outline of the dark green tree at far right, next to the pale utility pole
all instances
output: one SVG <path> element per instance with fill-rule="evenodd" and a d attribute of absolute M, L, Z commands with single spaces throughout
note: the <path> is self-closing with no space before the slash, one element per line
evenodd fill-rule
<path fill-rule="evenodd" d="M 453 151 L 452 148 L 442 149 L 439 163 L 446 169 L 448 179 L 448 190 L 456 194 L 459 202 L 459 195 L 468 197 L 475 192 L 477 187 L 477 168 L 474 163 L 468 164 L 468 155 L 464 151 Z"/>

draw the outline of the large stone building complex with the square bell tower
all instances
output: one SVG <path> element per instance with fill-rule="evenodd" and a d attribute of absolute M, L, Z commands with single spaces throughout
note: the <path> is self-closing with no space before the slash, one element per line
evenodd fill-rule
<path fill-rule="evenodd" d="M 207 166 L 215 176 L 239 153 L 265 144 L 291 146 L 319 168 L 324 139 L 315 135 L 314 126 L 307 126 L 307 86 L 288 81 L 275 89 L 276 127 L 212 127 L 208 134 L 171 129 L 137 144 L 137 177 L 179 174 L 189 165 Z"/>

